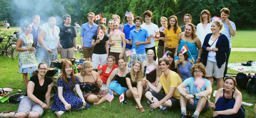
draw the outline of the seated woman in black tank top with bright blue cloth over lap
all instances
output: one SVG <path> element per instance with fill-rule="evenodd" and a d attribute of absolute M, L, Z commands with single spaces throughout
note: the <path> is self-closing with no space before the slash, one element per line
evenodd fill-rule
<path fill-rule="evenodd" d="M 123 58 L 118 59 L 118 68 L 115 68 L 107 80 L 107 88 L 113 91 L 115 96 L 119 96 L 124 91 L 128 90 L 126 84 L 125 75 L 130 72 L 131 69 L 126 67 L 126 62 Z M 114 80 L 113 80 L 114 79 Z"/>

